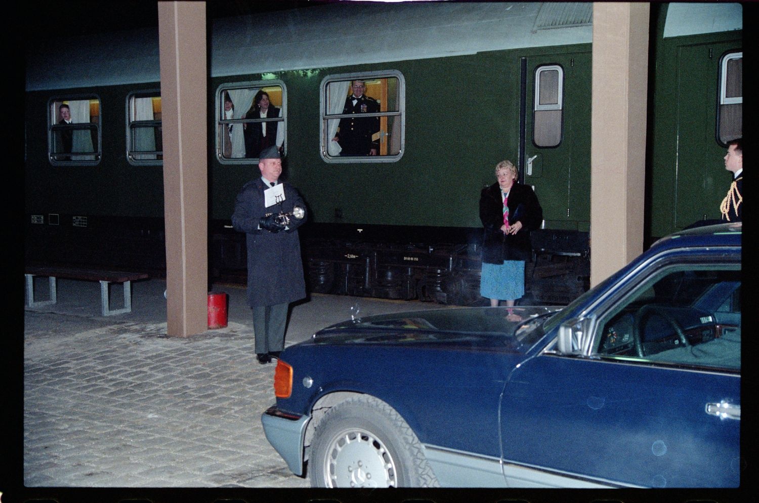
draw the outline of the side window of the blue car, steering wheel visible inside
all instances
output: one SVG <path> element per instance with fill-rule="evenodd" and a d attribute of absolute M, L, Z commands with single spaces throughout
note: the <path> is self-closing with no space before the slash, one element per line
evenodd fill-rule
<path fill-rule="evenodd" d="M 740 270 L 678 266 L 644 282 L 600 320 L 596 354 L 740 369 Z"/>

